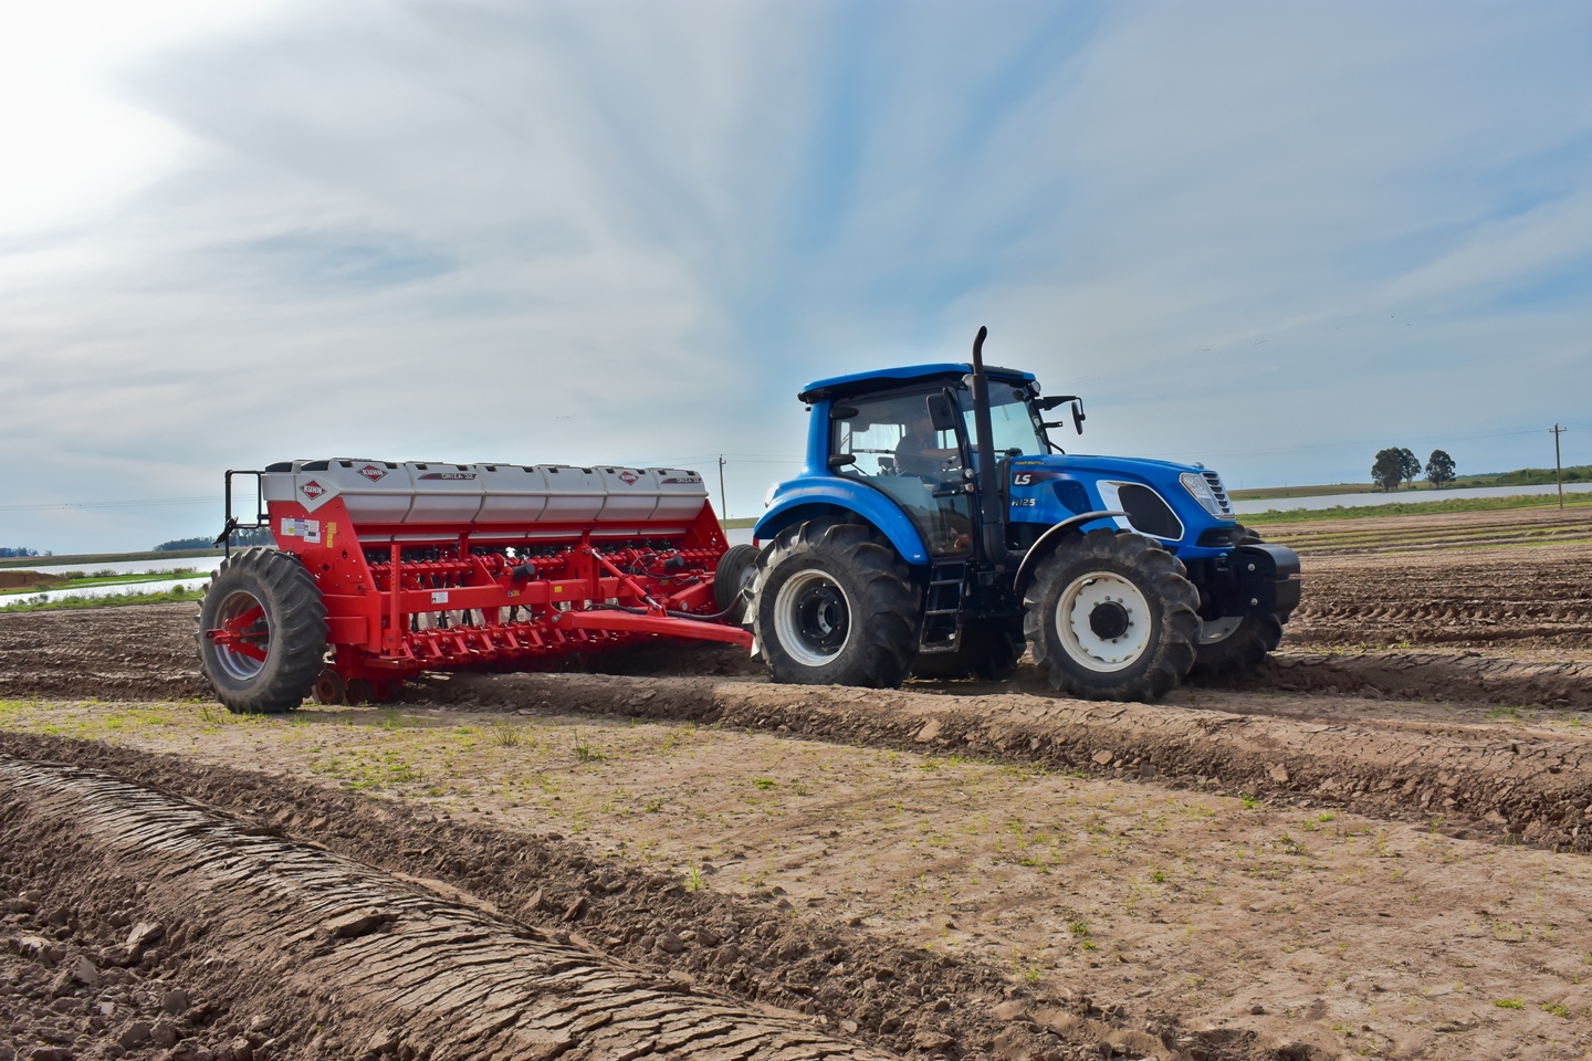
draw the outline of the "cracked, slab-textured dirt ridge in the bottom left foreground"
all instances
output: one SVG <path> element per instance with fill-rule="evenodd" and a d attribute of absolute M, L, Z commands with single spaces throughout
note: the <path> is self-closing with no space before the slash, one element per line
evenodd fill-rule
<path fill-rule="evenodd" d="M 283 988 L 369 1028 L 377 1053 L 691 1056 L 736 1040 L 736 1056 L 748 1061 L 882 1056 L 791 1020 L 681 996 L 678 981 L 659 983 L 110 775 L 0 760 L 0 784 L 27 810 L 21 834 L 29 819 L 72 822 L 80 853 L 137 873 L 153 905 L 205 923 L 212 951 L 245 970 L 264 978 L 283 969 Z M 423 964 L 430 989 L 373 966 L 377 953 Z M 667 1028 L 657 1021 L 664 1012 Z"/>

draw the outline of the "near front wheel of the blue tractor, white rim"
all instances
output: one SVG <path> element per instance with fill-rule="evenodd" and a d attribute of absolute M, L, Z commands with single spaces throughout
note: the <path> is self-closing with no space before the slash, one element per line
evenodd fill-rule
<path fill-rule="evenodd" d="M 1046 557 L 1024 592 L 1033 662 L 1084 700 L 1159 700 L 1194 667 L 1199 590 L 1134 531 L 1095 530 Z"/>

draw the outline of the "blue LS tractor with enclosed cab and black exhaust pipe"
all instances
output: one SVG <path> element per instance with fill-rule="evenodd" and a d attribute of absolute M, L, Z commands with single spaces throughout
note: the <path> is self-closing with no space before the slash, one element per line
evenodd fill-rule
<path fill-rule="evenodd" d="M 1299 558 L 1234 519 L 1199 464 L 1078 457 L 1028 372 L 914 364 L 818 380 L 802 472 L 739 568 L 775 681 L 898 686 L 1013 673 L 1024 649 L 1075 697 L 1156 700 L 1253 670 L 1299 604 Z M 723 569 L 721 569 L 723 571 Z M 732 597 L 734 590 L 726 593 Z"/>

